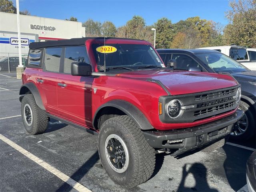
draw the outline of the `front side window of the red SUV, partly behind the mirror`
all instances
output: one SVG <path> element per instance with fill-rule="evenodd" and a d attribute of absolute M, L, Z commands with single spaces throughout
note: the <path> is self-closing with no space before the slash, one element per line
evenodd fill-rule
<path fill-rule="evenodd" d="M 72 62 L 85 62 L 90 63 L 85 46 L 79 47 L 66 47 L 64 58 L 64 73 L 71 74 Z"/>

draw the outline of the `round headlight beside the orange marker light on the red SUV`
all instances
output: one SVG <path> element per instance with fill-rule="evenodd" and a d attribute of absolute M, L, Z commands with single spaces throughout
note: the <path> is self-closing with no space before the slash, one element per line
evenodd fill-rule
<path fill-rule="evenodd" d="M 181 109 L 181 107 L 181 101 L 178 99 L 174 99 L 166 104 L 166 112 L 170 118 L 176 119 L 182 115 L 183 110 Z"/>

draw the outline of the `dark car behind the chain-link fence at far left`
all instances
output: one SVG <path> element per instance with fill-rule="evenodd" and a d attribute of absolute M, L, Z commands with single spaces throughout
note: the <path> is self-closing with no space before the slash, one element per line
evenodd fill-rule
<path fill-rule="evenodd" d="M 22 63 L 26 64 L 27 59 L 22 57 Z M 16 67 L 19 65 L 19 57 L 4 57 L 0 59 L 0 71 L 16 71 Z"/>

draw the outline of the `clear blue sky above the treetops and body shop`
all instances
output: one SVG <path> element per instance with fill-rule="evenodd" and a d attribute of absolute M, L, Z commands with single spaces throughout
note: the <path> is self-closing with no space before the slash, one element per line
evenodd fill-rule
<path fill-rule="evenodd" d="M 16 0 L 12 0 L 16 6 Z M 167 17 L 179 20 L 200 16 L 202 19 L 228 24 L 225 12 L 230 10 L 228 0 L 20 0 L 20 10 L 28 10 L 32 16 L 69 19 L 79 22 L 93 19 L 111 21 L 117 27 L 125 25 L 134 15 L 142 16 L 147 25 Z"/>

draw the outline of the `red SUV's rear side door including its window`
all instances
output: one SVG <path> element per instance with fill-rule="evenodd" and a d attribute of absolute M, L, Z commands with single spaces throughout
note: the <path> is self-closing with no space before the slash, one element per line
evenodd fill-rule
<path fill-rule="evenodd" d="M 60 72 L 62 48 L 46 48 L 43 69 L 38 72 L 37 87 L 45 104 L 46 111 L 58 114 L 57 81 Z"/>

